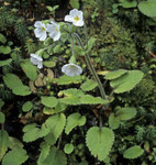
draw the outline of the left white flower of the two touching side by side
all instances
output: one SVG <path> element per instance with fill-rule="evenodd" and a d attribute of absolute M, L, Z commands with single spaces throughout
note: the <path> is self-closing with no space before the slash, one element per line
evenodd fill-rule
<path fill-rule="evenodd" d="M 36 21 L 34 26 L 36 28 L 34 30 L 35 36 L 40 38 L 40 41 L 45 41 L 46 38 L 46 26 L 41 21 Z"/>

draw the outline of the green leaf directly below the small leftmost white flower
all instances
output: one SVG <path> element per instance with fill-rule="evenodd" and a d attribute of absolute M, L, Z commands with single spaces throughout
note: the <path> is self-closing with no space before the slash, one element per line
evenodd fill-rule
<path fill-rule="evenodd" d="M 31 62 L 25 61 L 24 63 L 21 63 L 21 67 L 27 78 L 30 78 L 33 81 L 36 80 L 36 78 L 37 78 L 37 67 L 36 66 L 34 66 Z"/>

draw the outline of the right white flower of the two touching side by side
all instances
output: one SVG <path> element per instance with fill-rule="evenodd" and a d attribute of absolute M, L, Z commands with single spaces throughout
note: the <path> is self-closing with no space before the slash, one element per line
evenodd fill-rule
<path fill-rule="evenodd" d="M 54 21 L 51 21 L 52 24 L 47 24 L 47 32 L 49 32 L 49 36 L 54 40 L 57 41 L 60 37 L 60 31 L 59 31 L 59 25 L 55 23 Z"/>

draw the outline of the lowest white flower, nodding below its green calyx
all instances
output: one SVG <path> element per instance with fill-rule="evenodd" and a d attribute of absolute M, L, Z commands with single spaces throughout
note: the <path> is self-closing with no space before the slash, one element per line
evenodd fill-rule
<path fill-rule="evenodd" d="M 70 63 L 66 64 L 62 67 L 62 72 L 65 73 L 67 76 L 75 76 L 75 75 L 80 75 L 82 73 L 82 69 L 80 66 Z"/>

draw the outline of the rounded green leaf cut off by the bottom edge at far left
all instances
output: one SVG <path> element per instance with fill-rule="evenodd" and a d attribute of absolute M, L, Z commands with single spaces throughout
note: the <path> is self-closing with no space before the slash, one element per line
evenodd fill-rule
<path fill-rule="evenodd" d="M 21 165 L 29 158 L 26 151 L 14 148 L 7 153 L 2 160 L 2 165 Z"/>

